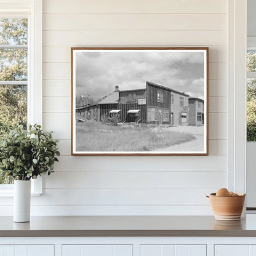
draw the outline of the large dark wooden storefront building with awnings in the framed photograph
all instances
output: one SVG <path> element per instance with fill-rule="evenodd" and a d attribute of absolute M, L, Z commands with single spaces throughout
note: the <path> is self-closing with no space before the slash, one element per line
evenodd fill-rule
<path fill-rule="evenodd" d="M 116 114 L 120 122 L 188 126 L 188 98 L 184 92 L 146 82 L 144 89 L 119 90 L 116 86 L 102 102 L 86 106 L 83 111 L 87 112 L 86 119 L 94 121 Z"/>

